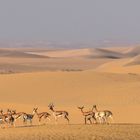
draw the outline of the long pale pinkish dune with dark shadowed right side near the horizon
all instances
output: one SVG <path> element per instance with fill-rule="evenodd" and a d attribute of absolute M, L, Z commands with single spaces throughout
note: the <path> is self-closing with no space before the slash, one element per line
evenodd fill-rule
<path fill-rule="evenodd" d="M 56 58 L 67 57 L 89 57 L 89 58 L 121 58 L 123 55 L 119 52 L 102 49 L 102 48 L 86 48 L 86 49 L 69 49 L 69 50 L 57 50 L 46 52 L 28 52 L 29 54 L 37 54 Z"/>

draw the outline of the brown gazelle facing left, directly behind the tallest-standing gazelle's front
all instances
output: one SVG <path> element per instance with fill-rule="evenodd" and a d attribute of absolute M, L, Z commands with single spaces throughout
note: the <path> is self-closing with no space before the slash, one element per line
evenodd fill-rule
<path fill-rule="evenodd" d="M 39 123 L 41 122 L 41 119 L 42 118 L 44 118 L 44 119 L 48 119 L 48 120 L 50 120 L 50 114 L 48 113 L 48 112 L 41 112 L 41 113 L 38 113 L 38 108 L 36 108 L 36 110 L 35 110 L 35 113 L 37 114 L 37 117 L 38 117 L 38 119 L 39 119 Z"/>

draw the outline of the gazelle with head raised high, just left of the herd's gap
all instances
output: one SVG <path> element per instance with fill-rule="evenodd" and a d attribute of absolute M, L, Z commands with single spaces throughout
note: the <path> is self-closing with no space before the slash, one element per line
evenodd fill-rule
<path fill-rule="evenodd" d="M 58 110 L 54 110 L 54 105 L 53 103 L 49 104 L 49 109 L 53 112 L 53 116 L 55 118 L 55 122 L 57 123 L 58 118 L 62 117 L 64 119 L 66 119 L 69 123 L 69 118 L 68 118 L 68 112 L 67 111 L 58 111 Z"/>

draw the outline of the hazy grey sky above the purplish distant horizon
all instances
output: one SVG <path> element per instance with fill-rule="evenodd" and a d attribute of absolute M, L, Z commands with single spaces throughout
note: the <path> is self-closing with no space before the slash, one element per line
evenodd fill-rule
<path fill-rule="evenodd" d="M 0 0 L 0 40 L 140 40 L 140 0 Z"/>

